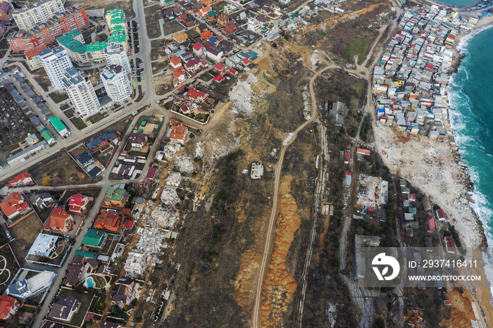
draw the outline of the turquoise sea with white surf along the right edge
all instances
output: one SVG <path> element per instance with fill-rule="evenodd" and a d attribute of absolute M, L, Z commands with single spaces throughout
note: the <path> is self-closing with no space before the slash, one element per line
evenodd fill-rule
<path fill-rule="evenodd" d="M 493 26 L 463 37 L 465 57 L 450 83 L 450 119 L 461 158 L 474 183 L 473 208 L 493 246 Z M 460 219 L 460 218 L 459 218 Z M 467 242 L 467 241 L 466 241 Z M 491 253 L 491 252 L 490 252 Z M 485 271 L 493 282 L 492 260 Z"/>

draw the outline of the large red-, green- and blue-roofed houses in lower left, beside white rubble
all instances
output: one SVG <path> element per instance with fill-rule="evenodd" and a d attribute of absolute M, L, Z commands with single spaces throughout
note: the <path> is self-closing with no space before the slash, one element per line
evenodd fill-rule
<path fill-rule="evenodd" d="M 96 141 L 96 139 L 93 141 Z M 29 173 L 23 172 L 8 182 L 7 187 L 25 187 L 34 184 L 35 181 Z M 118 253 L 117 248 L 120 248 L 120 254 L 121 249 L 125 248 L 125 245 L 117 244 L 118 240 L 125 229 L 132 229 L 134 226 L 133 220 L 127 220 L 132 210 L 124 207 L 129 194 L 123 187 L 123 185 L 107 187 L 104 191 L 106 193 L 104 202 L 94 222 L 92 222 L 92 228 L 83 236 L 81 248 L 77 249 L 73 258 L 70 259 L 67 274 L 63 279 L 63 286 L 72 288 L 83 284 L 86 287 L 97 289 L 110 288 L 111 277 L 116 275 L 116 272 L 113 272 L 113 267 L 109 265 L 110 261 Z M 54 198 L 47 192 L 24 195 L 13 191 L 0 203 L 1 212 L 6 217 L 8 226 L 7 230 L 2 229 L 4 229 L 4 234 L 11 235 L 12 232 L 9 228 L 13 225 L 22 225 L 22 220 L 32 213 L 33 208 L 36 208 L 37 211 L 46 208 L 51 210 L 49 217 L 44 222 L 42 231 L 32 244 L 26 260 L 28 263 L 61 267 L 63 260 L 65 260 L 70 251 L 70 246 L 67 247 L 70 244 L 68 241 L 74 239 L 78 234 L 82 222 L 84 222 L 87 213 L 92 207 L 92 202 L 93 198 L 85 196 L 82 191 L 82 194 L 73 194 L 68 198 L 65 209 L 57 206 Z M 9 242 L 14 239 L 15 236 L 11 235 Z M 116 246 L 114 246 L 115 244 Z M 125 263 L 124 269 L 128 269 L 130 275 L 135 274 L 135 272 L 132 272 L 132 267 L 134 268 L 133 270 L 137 270 L 135 258 L 136 256 L 134 255 L 129 256 L 128 263 Z M 32 272 L 30 274 L 31 277 L 25 278 L 25 272 Z M 10 286 L 8 286 L 7 295 L 0 297 L 0 308 L 4 309 L 0 311 L 0 319 L 11 319 L 25 300 L 35 298 L 40 294 L 46 294 L 56 278 L 57 274 L 55 272 L 56 270 L 53 269 L 37 272 L 21 268 L 13 277 Z M 137 270 L 138 272 L 140 271 Z M 58 274 L 65 274 L 65 272 L 58 272 Z M 96 286 L 94 283 L 96 279 L 105 282 L 105 286 Z M 130 305 L 135 298 L 139 298 L 139 291 L 139 282 L 134 279 L 117 279 L 111 290 L 110 301 L 114 305 L 123 308 L 125 305 Z M 49 313 L 50 320 L 46 320 L 46 322 L 53 324 L 51 320 L 56 320 L 56 322 L 69 323 L 73 315 L 80 309 L 80 306 L 80 301 L 73 296 L 59 298 L 51 308 Z M 94 317 L 92 313 L 88 313 L 88 315 Z M 72 324 L 82 323 L 72 322 Z M 104 324 L 104 322 L 101 324 Z M 117 324 L 116 326 L 106 325 L 104 327 L 119 326 Z"/>

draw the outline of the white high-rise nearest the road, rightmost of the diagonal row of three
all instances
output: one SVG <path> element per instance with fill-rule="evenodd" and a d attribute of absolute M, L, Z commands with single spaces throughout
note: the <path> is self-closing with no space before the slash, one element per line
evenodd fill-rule
<path fill-rule="evenodd" d="M 101 72 L 101 81 L 106 94 L 116 103 L 121 103 L 132 96 L 132 82 L 121 65 L 109 65 Z"/>

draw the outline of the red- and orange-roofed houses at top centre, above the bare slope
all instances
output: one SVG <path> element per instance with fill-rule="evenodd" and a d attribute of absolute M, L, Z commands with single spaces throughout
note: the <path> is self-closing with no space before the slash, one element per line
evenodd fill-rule
<path fill-rule="evenodd" d="M 289 2 L 289 1 L 287 1 Z M 200 0 L 196 4 L 177 2 L 170 4 L 164 1 L 161 5 L 161 13 L 166 23 L 173 20 L 184 27 L 193 28 L 199 37 L 192 39 L 185 31 L 176 32 L 166 41 L 165 52 L 170 61 L 173 84 L 176 86 L 189 77 L 208 68 L 210 65 L 225 62 L 228 67 L 214 77 L 215 82 L 222 82 L 227 75 L 237 75 L 238 70 L 248 70 L 248 65 L 258 54 L 254 51 L 242 51 L 240 47 L 247 46 L 259 39 L 258 34 L 273 41 L 280 37 L 273 32 L 273 20 L 277 20 L 279 27 L 286 27 L 303 22 L 300 15 L 282 15 L 280 8 L 274 4 L 264 4 L 261 8 L 255 8 L 255 13 L 247 19 L 242 6 L 226 4 L 223 12 L 213 10 L 211 0 Z M 254 6 L 254 4 L 251 4 Z M 233 13 L 239 13 L 238 21 L 232 18 Z M 204 20 L 198 23 L 194 15 Z M 246 21 L 246 30 L 239 25 Z M 198 24 L 197 24 L 198 23 Z M 306 22 L 305 22 L 306 23 Z M 254 32 L 254 34 L 249 34 Z M 193 44 L 193 45 L 191 45 Z M 216 65 L 214 65 L 215 70 Z"/>

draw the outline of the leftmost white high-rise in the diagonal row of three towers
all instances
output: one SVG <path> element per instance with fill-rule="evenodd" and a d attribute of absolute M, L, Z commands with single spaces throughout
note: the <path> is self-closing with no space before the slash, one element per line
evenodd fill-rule
<path fill-rule="evenodd" d="M 44 49 L 39 51 L 39 58 L 43 64 L 46 75 L 48 75 L 51 85 L 55 90 L 63 90 L 61 79 L 67 68 L 73 68 L 72 61 L 65 49 L 57 46 L 54 49 Z"/>

